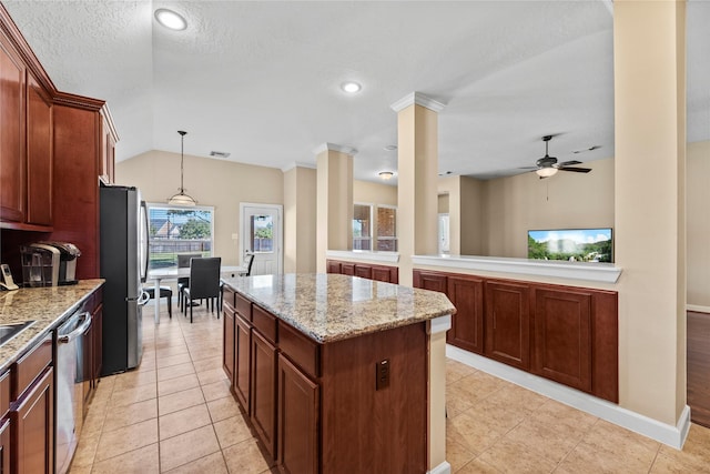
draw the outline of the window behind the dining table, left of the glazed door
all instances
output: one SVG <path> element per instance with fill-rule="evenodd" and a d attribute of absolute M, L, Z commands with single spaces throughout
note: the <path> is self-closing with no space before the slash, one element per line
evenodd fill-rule
<path fill-rule="evenodd" d="M 214 208 L 148 204 L 149 268 L 178 266 L 179 253 L 212 255 Z"/>

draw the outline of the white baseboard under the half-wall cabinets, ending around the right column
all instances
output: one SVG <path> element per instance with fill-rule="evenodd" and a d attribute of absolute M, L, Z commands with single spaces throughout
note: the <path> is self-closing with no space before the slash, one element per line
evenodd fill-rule
<path fill-rule="evenodd" d="M 690 407 L 688 405 L 680 414 L 678 424 L 673 426 L 449 344 L 446 345 L 446 356 L 677 450 L 682 448 L 688 437 L 690 430 Z"/>

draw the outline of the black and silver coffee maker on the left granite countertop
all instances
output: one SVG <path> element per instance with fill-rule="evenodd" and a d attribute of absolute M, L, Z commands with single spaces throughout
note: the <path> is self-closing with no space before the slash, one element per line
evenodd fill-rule
<path fill-rule="evenodd" d="M 81 251 L 69 242 L 37 242 L 23 245 L 24 286 L 57 286 L 78 283 L 77 258 Z"/>

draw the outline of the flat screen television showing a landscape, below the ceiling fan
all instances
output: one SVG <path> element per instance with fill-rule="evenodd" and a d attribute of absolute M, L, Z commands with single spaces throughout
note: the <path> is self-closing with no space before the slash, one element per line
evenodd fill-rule
<path fill-rule="evenodd" d="M 528 259 L 613 262 L 611 228 L 528 231 Z"/>

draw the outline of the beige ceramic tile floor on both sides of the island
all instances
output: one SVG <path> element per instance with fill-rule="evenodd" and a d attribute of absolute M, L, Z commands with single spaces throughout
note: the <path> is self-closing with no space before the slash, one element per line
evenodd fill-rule
<path fill-rule="evenodd" d="M 222 372 L 222 320 L 145 314 L 141 366 L 101 380 L 70 472 L 270 473 Z M 446 376 L 454 473 L 710 473 L 699 425 L 677 451 L 453 360 Z"/>

